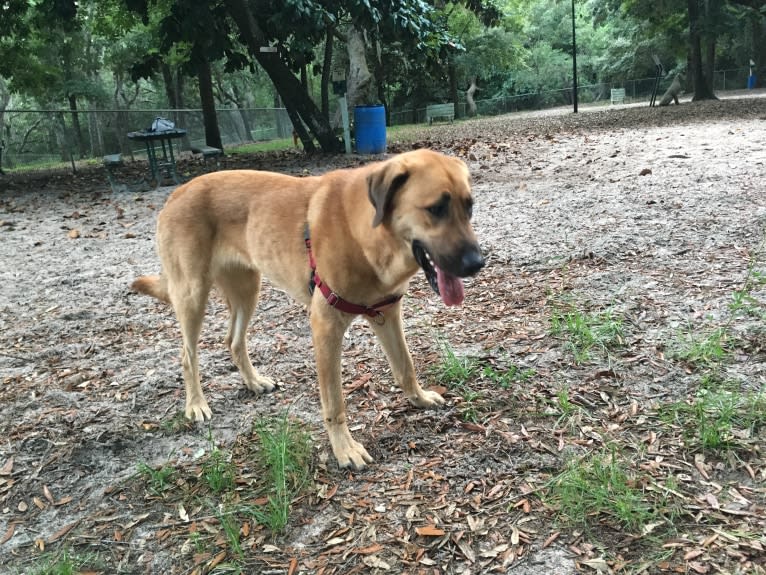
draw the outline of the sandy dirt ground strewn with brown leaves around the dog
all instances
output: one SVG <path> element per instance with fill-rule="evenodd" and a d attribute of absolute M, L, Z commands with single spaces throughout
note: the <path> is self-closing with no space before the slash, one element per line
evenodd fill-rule
<path fill-rule="evenodd" d="M 443 307 L 422 274 L 406 298 L 416 366 L 444 409 L 409 407 L 369 330 L 352 325 L 351 429 L 375 458 L 359 473 L 329 452 L 304 310 L 268 283 L 250 350 L 278 391 L 244 390 L 213 297 L 201 343 L 213 420 L 165 425 L 183 406 L 179 332 L 169 308 L 129 285 L 159 269 L 154 225 L 172 188 L 113 193 L 100 172 L 0 179 L 0 572 L 35 573 L 68 549 L 93 573 L 763 573 L 764 426 L 711 450 L 658 415 L 698 397 L 710 366 L 674 349 L 714 328 L 728 334 L 717 373 L 742 394 L 766 390 L 766 291 L 752 281 L 766 271 L 757 96 L 503 116 L 392 142 L 468 163 L 488 266 L 461 308 Z M 229 167 L 306 174 L 371 159 L 284 152 Z M 745 292 L 753 313 L 735 313 Z M 620 347 L 575 361 L 551 330 L 562 307 L 622 318 Z M 491 368 L 470 394 L 437 377 L 445 346 Z M 516 368 L 532 375 L 492 377 Z M 284 533 L 243 525 L 236 554 L 217 535 L 215 499 L 143 484 L 140 463 L 193 482 L 212 437 L 248 493 L 259 478 L 238 454 L 255 421 L 286 409 L 312 437 L 314 482 Z M 546 486 L 611 445 L 647 497 L 672 476 L 675 514 L 655 507 L 637 532 L 596 511 L 590 525 L 567 523 Z M 210 534 L 203 548 L 190 548 L 195 530 Z"/>

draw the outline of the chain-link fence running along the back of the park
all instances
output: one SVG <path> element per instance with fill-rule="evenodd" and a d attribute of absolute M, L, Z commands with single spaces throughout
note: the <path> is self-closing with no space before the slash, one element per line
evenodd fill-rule
<path fill-rule="evenodd" d="M 748 68 L 719 70 L 716 90 L 745 89 Z M 660 83 L 659 94 L 671 78 Z M 578 101 L 583 104 L 609 102 L 612 88 L 625 88 L 626 102 L 648 102 L 654 78 L 628 80 L 621 84 L 579 86 Z M 572 104 L 572 89 L 543 90 L 501 98 L 478 100 L 479 116 L 495 116 L 525 110 L 539 110 Z M 458 115 L 466 116 L 466 104 L 458 106 Z M 220 108 L 218 126 L 225 147 L 290 138 L 292 123 L 284 108 Z M 187 110 L 6 110 L 0 135 L 0 167 L 6 171 L 60 169 L 76 171 L 78 163 L 94 162 L 107 154 L 121 153 L 126 158 L 143 158 L 145 147 L 128 139 L 128 132 L 145 129 L 162 116 L 187 131 L 177 141 L 178 151 L 204 145 L 202 111 Z M 426 123 L 426 108 L 392 110 L 390 125 Z"/>

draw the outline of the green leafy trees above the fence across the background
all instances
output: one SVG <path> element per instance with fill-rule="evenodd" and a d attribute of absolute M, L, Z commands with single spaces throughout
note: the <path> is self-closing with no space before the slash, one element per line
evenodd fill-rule
<path fill-rule="evenodd" d="M 718 68 L 766 66 L 766 0 L 577 0 L 582 83 L 653 74 L 695 99 Z M 0 127 L 15 106 L 286 107 L 304 147 L 340 148 L 330 87 L 389 112 L 571 89 L 571 3 L 548 0 L 6 0 Z M 758 74 L 758 82 L 762 81 Z"/>

